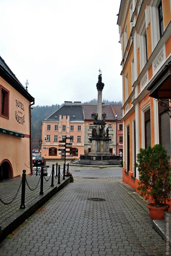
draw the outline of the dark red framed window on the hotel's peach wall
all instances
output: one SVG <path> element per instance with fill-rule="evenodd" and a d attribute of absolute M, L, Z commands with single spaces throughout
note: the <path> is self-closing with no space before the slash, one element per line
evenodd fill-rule
<path fill-rule="evenodd" d="M 4 118 L 9 118 L 9 91 L 0 86 L 0 115 Z"/>

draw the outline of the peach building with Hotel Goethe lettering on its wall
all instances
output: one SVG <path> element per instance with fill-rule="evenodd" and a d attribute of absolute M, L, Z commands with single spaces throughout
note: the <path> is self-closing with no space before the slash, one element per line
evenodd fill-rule
<path fill-rule="evenodd" d="M 34 98 L 0 57 L 0 181 L 32 169 L 31 102 Z"/>

